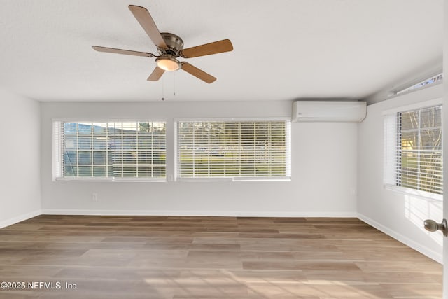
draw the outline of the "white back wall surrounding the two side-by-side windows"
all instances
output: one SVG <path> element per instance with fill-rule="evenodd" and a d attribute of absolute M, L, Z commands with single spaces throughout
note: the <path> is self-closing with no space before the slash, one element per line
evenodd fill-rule
<path fill-rule="evenodd" d="M 169 176 L 174 174 L 173 118 L 290 117 L 292 102 L 48 102 L 41 107 L 44 213 L 356 216 L 356 124 L 293 123 L 290 182 L 62 182 L 52 181 L 52 118 L 167 118 Z"/>

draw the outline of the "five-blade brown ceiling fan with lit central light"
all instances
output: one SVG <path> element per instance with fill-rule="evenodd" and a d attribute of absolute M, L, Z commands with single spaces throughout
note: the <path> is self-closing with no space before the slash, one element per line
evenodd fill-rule
<path fill-rule="evenodd" d="M 101 46 L 92 46 L 94 50 L 106 53 L 156 57 L 155 62 L 157 63 L 157 67 L 155 67 L 153 73 L 151 73 L 151 75 L 148 77 L 148 81 L 158 81 L 160 77 L 165 73 L 165 71 L 177 71 L 178 69 L 183 69 L 187 73 L 200 78 L 206 83 L 212 83 L 216 81 L 216 78 L 214 76 L 207 74 L 205 71 L 194 67 L 188 62 L 180 62 L 179 60 L 177 60 L 177 58 L 200 57 L 204 55 L 232 51 L 233 46 L 230 40 L 223 39 L 222 41 L 215 41 L 214 43 L 206 43 L 204 45 L 184 49 L 183 41 L 179 36 L 177 36 L 176 34 L 159 31 L 158 27 L 155 25 L 153 18 L 151 17 L 151 14 L 146 8 L 135 5 L 130 5 L 128 7 L 132 14 L 134 14 L 134 17 L 137 19 L 137 21 L 139 21 L 146 34 L 148 34 L 151 41 L 153 41 L 153 43 L 157 47 L 159 55 L 154 55 L 153 53 L 147 52 L 107 48 Z"/>

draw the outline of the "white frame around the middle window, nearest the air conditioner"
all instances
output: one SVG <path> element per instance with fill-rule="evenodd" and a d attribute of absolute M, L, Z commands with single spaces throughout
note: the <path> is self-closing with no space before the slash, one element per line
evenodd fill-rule
<path fill-rule="evenodd" d="M 179 123 L 180 122 L 285 122 L 286 130 L 286 176 L 201 176 L 201 177 L 181 177 L 179 175 Z M 236 182 L 274 182 L 274 181 L 291 181 L 291 119 L 286 117 L 279 118 L 174 118 L 174 180 L 175 181 L 236 181 Z"/>

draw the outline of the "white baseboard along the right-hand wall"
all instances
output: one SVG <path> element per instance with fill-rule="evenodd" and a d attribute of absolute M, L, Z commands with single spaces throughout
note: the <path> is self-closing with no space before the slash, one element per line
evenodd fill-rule
<path fill-rule="evenodd" d="M 372 225 L 374 228 L 377 228 L 377 230 L 381 230 L 381 232 L 384 232 L 386 235 L 389 235 L 389 236 L 393 237 L 394 239 L 402 242 L 403 244 L 411 247 L 412 249 L 419 251 L 420 253 L 424 254 L 425 256 L 428 256 L 428 258 L 432 258 L 437 263 L 442 264 L 443 255 L 441 253 L 433 251 L 433 249 L 423 246 L 420 243 L 415 242 L 414 240 L 409 239 L 408 237 L 405 237 L 398 232 L 395 232 L 395 230 L 391 230 L 390 228 L 382 225 L 381 223 L 378 223 L 377 221 L 374 221 L 373 219 L 371 219 L 363 214 L 358 213 L 358 218 L 361 221 L 364 221 L 365 223 Z"/>

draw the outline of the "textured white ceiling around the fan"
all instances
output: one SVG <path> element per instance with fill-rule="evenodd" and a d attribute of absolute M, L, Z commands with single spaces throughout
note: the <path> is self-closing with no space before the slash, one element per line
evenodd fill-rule
<path fill-rule="evenodd" d="M 148 8 L 185 48 L 230 39 L 230 53 L 188 59 L 148 82 L 157 53 L 127 8 Z M 363 98 L 442 64 L 442 0 L 1 0 L 0 85 L 40 101 Z M 415 76 L 415 74 L 414 74 Z M 173 95 L 173 92 L 176 95 Z"/>

